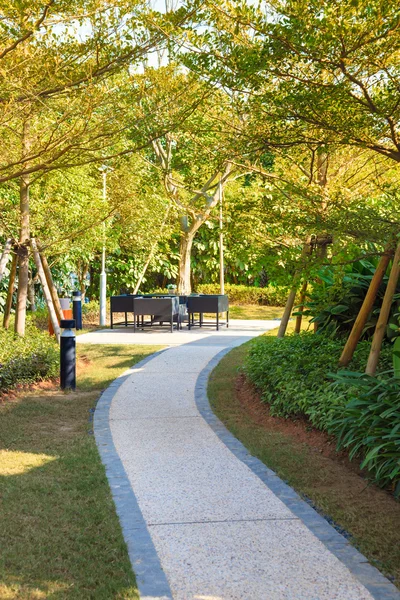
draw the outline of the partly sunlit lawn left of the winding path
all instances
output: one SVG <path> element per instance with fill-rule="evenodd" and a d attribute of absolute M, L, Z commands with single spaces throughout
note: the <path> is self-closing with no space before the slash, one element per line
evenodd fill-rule
<path fill-rule="evenodd" d="M 89 411 L 156 349 L 79 346 L 77 392 L 0 406 L 0 598 L 138 598 Z"/>

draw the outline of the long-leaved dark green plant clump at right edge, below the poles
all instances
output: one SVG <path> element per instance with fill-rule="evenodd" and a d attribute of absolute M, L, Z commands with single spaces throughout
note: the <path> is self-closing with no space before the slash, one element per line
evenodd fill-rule
<path fill-rule="evenodd" d="M 346 405 L 333 411 L 328 431 L 350 458 L 362 456 L 375 483 L 400 495 L 400 382 L 391 374 L 370 377 L 341 371 L 334 376 Z M 336 387 L 336 386 L 335 386 Z"/>

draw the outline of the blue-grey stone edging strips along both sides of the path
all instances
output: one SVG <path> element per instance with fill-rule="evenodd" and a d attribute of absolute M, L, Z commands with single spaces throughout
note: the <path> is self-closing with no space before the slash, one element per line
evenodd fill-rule
<path fill-rule="evenodd" d="M 271 469 L 250 455 L 214 415 L 207 397 L 210 373 L 232 347 L 224 348 L 201 371 L 195 389 L 197 408 L 219 439 L 298 517 L 305 526 L 334 554 L 370 592 L 375 600 L 400 600 L 400 592 L 348 540 L 338 533 L 321 515 Z M 125 469 L 112 439 L 109 412 L 118 388 L 131 376 L 134 369 L 144 367 L 160 350 L 140 361 L 118 377 L 101 395 L 94 414 L 94 434 L 102 462 L 106 469 L 117 514 L 120 519 L 129 558 L 136 574 L 140 597 L 146 600 L 173 600 L 170 586 L 161 567 L 149 530 L 138 506 Z"/>

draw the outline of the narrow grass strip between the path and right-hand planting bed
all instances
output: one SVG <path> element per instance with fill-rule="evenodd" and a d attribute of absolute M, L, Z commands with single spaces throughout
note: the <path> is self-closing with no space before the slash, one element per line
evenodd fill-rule
<path fill-rule="evenodd" d="M 276 330 L 270 332 L 274 334 Z M 252 455 L 345 529 L 352 543 L 399 585 L 400 503 L 385 491 L 367 486 L 343 461 L 323 456 L 307 443 L 257 422 L 240 402 L 235 385 L 251 343 L 232 350 L 214 369 L 208 395 L 215 413 Z"/>

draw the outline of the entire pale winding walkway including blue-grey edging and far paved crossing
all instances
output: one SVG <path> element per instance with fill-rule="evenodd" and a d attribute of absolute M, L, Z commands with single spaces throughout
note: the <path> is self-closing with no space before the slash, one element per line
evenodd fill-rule
<path fill-rule="evenodd" d="M 141 598 L 400 598 L 209 409 L 213 366 L 276 322 L 232 325 L 221 332 L 115 331 L 78 338 L 170 344 L 116 380 L 95 413 L 96 440 Z"/>

